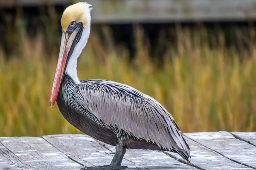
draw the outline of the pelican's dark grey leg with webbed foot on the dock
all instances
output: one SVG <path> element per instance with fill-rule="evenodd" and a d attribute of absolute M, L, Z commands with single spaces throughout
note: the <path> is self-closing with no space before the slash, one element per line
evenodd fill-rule
<path fill-rule="evenodd" d="M 126 148 L 123 148 L 121 145 L 116 145 L 116 153 L 110 163 L 110 165 L 104 165 L 99 167 L 84 167 L 80 170 L 123 170 L 126 169 L 126 166 L 121 166 L 122 159 L 125 155 Z"/>

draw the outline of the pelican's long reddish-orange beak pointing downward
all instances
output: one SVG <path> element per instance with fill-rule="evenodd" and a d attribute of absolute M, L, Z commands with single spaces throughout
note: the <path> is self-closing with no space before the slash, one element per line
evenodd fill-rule
<path fill-rule="evenodd" d="M 61 85 L 62 77 L 68 62 L 68 59 L 73 53 L 73 49 L 77 43 L 77 35 L 81 29 L 75 29 L 72 33 L 63 32 L 61 37 L 61 48 L 58 58 L 58 65 L 52 83 L 52 90 L 49 97 L 49 106 L 53 109 L 53 105 L 57 99 L 58 91 Z M 71 50 L 70 50 L 71 49 Z"/>

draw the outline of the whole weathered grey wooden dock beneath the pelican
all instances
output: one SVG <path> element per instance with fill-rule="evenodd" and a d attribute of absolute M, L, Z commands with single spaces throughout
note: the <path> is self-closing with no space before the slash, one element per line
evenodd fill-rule
<path fill-rule="evenodd" d="M 253 170 L 256 132 L 183 133 L 191 163 L 171 152 L 127 150 L 128 170 Z M 115 147 L 87 135 L 1 137 L 0 170 L 80 170 L 111 162 Z"/>

